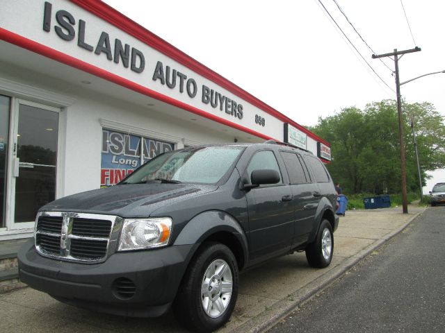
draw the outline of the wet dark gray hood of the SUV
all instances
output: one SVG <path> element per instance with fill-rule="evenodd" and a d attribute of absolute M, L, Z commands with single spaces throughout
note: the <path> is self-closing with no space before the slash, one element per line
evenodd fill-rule
<path fill-rule="evenodd" d="M 90 212 L 122 217 L 148 217 L 163 205 L 195 198 L 215 191 L 214 185 L 127 184 L 65 196 L 40 208 L 40 211 Z"/>

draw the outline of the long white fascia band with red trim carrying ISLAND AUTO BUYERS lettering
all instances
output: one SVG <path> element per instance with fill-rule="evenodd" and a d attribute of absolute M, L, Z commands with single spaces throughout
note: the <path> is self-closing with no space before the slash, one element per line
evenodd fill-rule
<path fill-rule="evenodd" d="M 0 0 L 3 2 L 11 1 Z M 186 56 L 179 54 L 178 59 L 178 51 L 170 45 L 159 51 L 162 42 L 149 33 L 138 31 L 135 36 L 119 28 L 121 22 L 116 22 L 116 17 L 111 17 L 111 22 L 97 17 L 86 9 L 88 1 L 13 2 L 14 6 L 1 6 L 0 39 L 2 33 L 13 32 L 17 38 L 30 40 L 27 48 L 37 48 L 42 56 L 165 103 L 175 106 L 177 102 L 184 103 L 179 108 L 195 114 L 196 108 L 200 111 L 198 114 L 213 121 L 229 121 L 235 127 L 242 126 L 241 130 L 252 130 L 268 138 L 281 136 L 283 121 L 252 103 L 242 89 L 226 85 L 225 79 L 211 71 L 193 69 L 195 65 L 188 67 L 184 64 Z M 95 4 L 91 8 L 100 6 Z M 22 17 L 27 18 L 26 22 Z M 152 38 L 154 41 L 150 41 Z M 151 42 L 156 45 L 152 46 Z M 214 76 L 218 80 L 214 80 Z M 217 83 L 219 80 L 224 81 L 223 85 Z"/>

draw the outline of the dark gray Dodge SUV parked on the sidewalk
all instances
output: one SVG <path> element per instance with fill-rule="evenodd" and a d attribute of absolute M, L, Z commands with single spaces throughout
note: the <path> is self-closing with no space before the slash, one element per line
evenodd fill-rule
<path fill-rule="evenodd" d="M 330 264 L 336 203 L 323 164 L 299 148 L 184 148 L 42 207 L 19 276 L 110 314 L 159 316 L 172 305 L 186 327 L 209 332 L 232 314 L 241 269 L 296 250 L 311 266 Z"/>

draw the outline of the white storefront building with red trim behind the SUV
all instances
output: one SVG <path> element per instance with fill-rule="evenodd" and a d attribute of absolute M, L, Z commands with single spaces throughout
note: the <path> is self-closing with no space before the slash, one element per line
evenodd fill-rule
<path fill-rule="evenodd" d="M 329 144 L 100 1 L 0 0 L 0 240 L 184 146 Z"/>

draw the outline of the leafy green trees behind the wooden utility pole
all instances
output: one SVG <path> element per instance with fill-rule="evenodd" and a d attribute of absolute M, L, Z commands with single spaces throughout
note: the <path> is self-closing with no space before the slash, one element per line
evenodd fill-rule
<path fill-rule="evenodd" d="M 423 184 L 425 171 L 445 167 L 445 125 L 431 103 L 405 104 L 403 114 L 407 187 L 419 191 L 411 123 L 416 130 Z M 396 101 L 370 103 L 364 110 L 344 108 L 318 119 L 311 130 L 330 142 L 333 160 L 328 169 L 347 193 L 400 193 Z"/>

